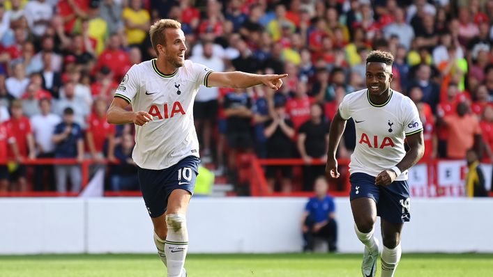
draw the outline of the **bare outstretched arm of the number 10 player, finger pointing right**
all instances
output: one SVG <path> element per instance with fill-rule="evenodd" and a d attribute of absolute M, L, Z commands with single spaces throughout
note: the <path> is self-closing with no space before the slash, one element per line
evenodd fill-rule
<path fill-rule="evenodd" d="M 282 78 L 287 74 L 251 74 L 241 71 L 234 72 L 212 72 L 208 75 L 207 85 L 223 88 L 250 88 L 264 84 L 273 90 L 282 86 Z"/>

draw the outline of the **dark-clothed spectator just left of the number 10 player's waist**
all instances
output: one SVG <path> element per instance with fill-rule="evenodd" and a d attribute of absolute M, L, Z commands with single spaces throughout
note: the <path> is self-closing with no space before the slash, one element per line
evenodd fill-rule
<path fill-rule="evenodd" d="M 118 164 L 110 167 L 112 191 L 139 190 L 137 166 L 132 159 L 135 141 L 131 134 L 124 134 L 121 143 L 114 150 Z"/>

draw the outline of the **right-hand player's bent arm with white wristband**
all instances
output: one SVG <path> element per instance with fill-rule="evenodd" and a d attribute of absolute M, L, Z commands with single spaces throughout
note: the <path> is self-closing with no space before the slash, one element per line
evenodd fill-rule
<path fill-rule="evenodd" d="M 414 166 L 423 157 L 423 154 L 425 154 L 423 131 L 406 136 L 406 140 L 407 145 L 409 145 L 409 151 L 407 151 L 404 158 L 396 165 L 400 172 L 406 171 L 411 166 Z M 375 184 L 386 186 L 394 182 L 395 178 L 397 178 L 397 173 L 391 169 L 387 169 L 377 175 Z"/>

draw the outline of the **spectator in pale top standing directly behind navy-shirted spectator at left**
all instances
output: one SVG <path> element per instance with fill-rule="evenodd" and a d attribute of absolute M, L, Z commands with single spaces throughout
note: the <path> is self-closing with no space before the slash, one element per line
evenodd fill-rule
<path fill-rule="evenodd" d="M 73 81 L 68 81 L 65 86 L 63 86 L 63 93 L 65 97 L 57 100 L 55 103 L 54 111 L 59 116 L 63 116 L 63 111 L 70 107 L 73 111 L 73 118 L 77 125 L 82 129 L 86 128 L 86 119 L 91 113 L 89 106 L 86 105 L 84 99 L 75 96 L 75 84 Z"/>

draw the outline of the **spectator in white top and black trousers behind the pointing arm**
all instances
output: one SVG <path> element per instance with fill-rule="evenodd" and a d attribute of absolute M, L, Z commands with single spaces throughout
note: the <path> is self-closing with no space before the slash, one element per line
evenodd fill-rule
<path fill-rule="evenodd" d="M 211 41 L 202 43 L 204 54 L 202 56 L 192 56 L 194 63 L 201 63 L 215 71 L 224 71 L 225 63 L 221 58 L 213 56 L 213 43 Z M 207 88 L 201 86 L 195 97 L 194 118 L 195 128 L 202 134 L 202 161 L 211 162 L 211 139 L 215 129 L 215 122 L 218 118 L 218 97 L 219 88 Z"/>

